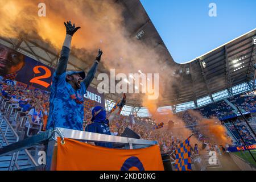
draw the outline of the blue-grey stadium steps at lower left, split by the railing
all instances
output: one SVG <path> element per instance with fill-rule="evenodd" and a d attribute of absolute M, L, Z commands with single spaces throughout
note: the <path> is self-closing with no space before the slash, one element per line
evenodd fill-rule
<path fill-rule="evenodd" d="M 1 124 L 2 123 L 2 124 Z M 5 135 L 6 134 L 6 135 Z M 6 140 L 3 138 L 5 135 Z M 0 148 L 17 142 L 17 135 L 11 130 L 8 123 L 0 114 Z M 0 156 L 0 171 L 18 170 L 34 167 L 26 151 L 16 152 L 6 156 Z"/>

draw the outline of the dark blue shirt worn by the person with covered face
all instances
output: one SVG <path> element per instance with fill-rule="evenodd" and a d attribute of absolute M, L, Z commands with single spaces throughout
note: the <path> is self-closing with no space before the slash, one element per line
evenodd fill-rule
<path fill-rule="evenodd" d="M 108 122 L 108 119 L 106 119 L 106 123 Z M 90 125 L 86 126 L 85 131 L 92 132 L 92 133 L 100 133 L 105 135 L 111 135 L 109 130 L 109 125 L 107 125 L 104 122 L 92 122 Z M 112 143 L 100 143 L 100 142 L 94 142 L 96 146 L 101 147 L 108 147 L 113 148 Z"/>

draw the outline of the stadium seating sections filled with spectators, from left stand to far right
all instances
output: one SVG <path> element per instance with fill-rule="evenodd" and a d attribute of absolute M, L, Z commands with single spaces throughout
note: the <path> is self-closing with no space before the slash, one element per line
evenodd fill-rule
<path fill-rule="evenodd" d="M 4 83 L 0 84 L 0 88 L 6 90 L 2 91 L 0 94 L 0 106 L 2 111 L 1 117 L 6 117 L 7 121 L 10 122 L 16 133 L 19 135 L 20 140 L 22 140 L 24 137 L 30 137 L 31 135 L 29 135 L 28 132 L 26 133 L 24 131 L 24 124 L 26 123 L 28 118 L 28 111 L 34 108 L 35 104 L 38 102 L 40 102 L 44 109 L 48 110 L 49 105 L 47 103 L 49 100 L 49 93 L 43 92 L 42 90 L 25 89 L 19 86 L 7 85 Z M 228 98 L 228 101 L 230 101 L 235 106 L 240 106 L 243 111 L 254 112 L 256 111 L 254 107 L 254 99 L 254 97 L 241 97 L 240 94 L 238 96 Z M 30 106 L 26 107 L 23 102 L 19 102 L 20 100 L 28 101 L 27 104 L 29 104 Z M 229 118 L 237 117 L 237 115 L 233 111 L 232 106 L 230 106 L 224 100 L 214 102 L 212 104 L 197 108 L 195 110 L 199 111 L 204 117 L 218 117 L 220 120 L 223 121 L 227 121 L 227 119 Z M 107 114 L 109 115 L 110 113 Z M 183 111 L 177 113 L 176 115 L 184 121 L 185 127 L 191 130 L 196 138 L 199 138 L 200 140 L 205 139 L 196 127 L 196 125 L 199 124 L 197 122 L 198 118 L 189 114 L 188 111 Z M 90 109 L 85 107 L 84 128 L 90 123 L 91 118 L 92 114 Z M 156 122 L 152 118 L 141 118 L 135 116 L 134 120 L 135 123 L 132 123 L 129 117 L 125 115 L 118 115 L 117 117 L 115 117 L 114 121 L 110 123 L 110 131 L 113 135 L 121 136 L 126 127 L 129 127 L 131 130 L 135 131 L 135 133 L 137 133 L 142 139 L 158 140 L 162 154 L 168 154 L 171 156 L 171 159 L 175 160 L 175 150 L 179 146 L 179 144 L 183 142 L 183 140 L 185 140 L 185 138 L 174 137 L 172 136 L 172 133 L 168 132 L 165 129 L 156 129 Z M 237 122 L 236 124 L 238 126 L 238 129 L 240 130 L 240 134 L 243 136 L 243 138 L 245 138 L 246 143 L 254 144 L 255 140 L 250 134 L 249 130 L 246 128 L 246 125 L 240 122 Z M 4 124 L 3 126 L 7 125 Z M 43 130 L 42 123 L 40 126 L 41 127 L 38 132 L 42 132 Z M 236 137 L 236 139 L 240 141 L 240 137 L 234 130 L 233 125 L 231 125 L 229 122 L 226 122 L 225 126 L 228 127 L 229 131 L 232 132 L 234 137 Z M 29 127 L 29 129 L 30 128 L 31 127 Z M 10 137 L 14 138 L 14 136 Z M 216 146 L 208 142 L 208 150 L 218 151 L 218 147 L 216 149 Z M 191 149 L 191 152 L 192 158 L 193 156 L 197 155 L 195 154 L 196 152 L 193 151 L 193 147 Z M 21 167 L 22 165 L 24 167 L 32 165 L 31 162 L 29 162 L 29 159 L 27 157 L 24 157 L 25 155 L 26 154 L 21 153 L 19 158 L 17 159 L 18 161 L 21 161 L 23 158 L 26 159 L 26 162 L 20 163 Z M 4 166 L 3 168 L 6 169 L 7 166 Z"/>

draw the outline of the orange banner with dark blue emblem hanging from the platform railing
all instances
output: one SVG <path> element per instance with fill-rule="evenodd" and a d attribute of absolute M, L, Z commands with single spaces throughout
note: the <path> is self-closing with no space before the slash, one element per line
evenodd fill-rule
<path fill-rule="evenodd" d="M 159 146 L 114 149 L 65 138 L 57 140 L 57 171 L 163 171 Z"/>

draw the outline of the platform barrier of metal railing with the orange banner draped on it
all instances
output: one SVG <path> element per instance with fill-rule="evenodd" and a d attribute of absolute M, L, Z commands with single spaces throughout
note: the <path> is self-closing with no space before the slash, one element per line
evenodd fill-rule
<path fill-rule="evenodd" d="M 59 140 L 59 143 L 57 142 Z M 124 144 L 123 148 L 113 149 L 113 148 L 105 148 L 105 147 L 98 147 L 93 146 L 90 144 L 87 144 L 88 142 L 110 142 L 110 143 L 119 143 Z M 9 154 L 17 154 L 19 151 L 25 150 L 27 151 L 28 148 L 38 146 L 39 144 L 44 143 L 47 146 L 46 151 L 46 164 L 44 167 L 42 165 L 36 163 L 33 168 L 30 168 L 30 170 L 72 170 L 72 168 L 66 168 L 70 165 L 65 166 L 65 164 L 61 164 L 62 167 L 64 165 L 64 168 L 57 168 L 57 158 L 58 155 L 60 155 L 60 151 L 62 145 L 64 147 L 68 147 L 68 143 L 75 143 L 75 146 L 78 147 L 87 147 L 84 150 L 83 154 L 81 156 L 81 159 L 75 160 L 76 154 L 69 155 L 65 153 L 65 157 L 70 161 L 78 161 L 77 164 L 82 163 L 82 166 L 86 166 L 85 164 L 90 165 L 89 160 L 92 160 L 92 155 L 94 153 L 99 152 L 99 150 L 102 150 L 102 154 L 98 153 L 101 156 L 98 156 L 98 158 L 105 158 L 104 160 L 109 160 L 112 153 L 113 160 L 116 160 L 113 165 L 105 166 L 105 168 L 102 168 L 102 165 L 90 166 L 90 169 L 92 170 L 126 170 L 127 165 L 130 165 L 131 167 L 137 167 L 139 170 L 172 170 L 171 163 L 168 162 L 167 156 L 161 156 L 159 146 L 157 145 L 158 142 L 156 141 L 150 141 L 150 140 L 143 140 L 143 139 L 135 139 L 135 138 L 127 138 L 127 137 L 117 137 L 113 135 L 104 135 L 104 134 L 97 134 L 97 133 L 90 133 L 86 131 L 77 131 L 77 130 L 70 130 L 70 129 L 63 129 L 63 128 L 55 128 L 54 130 L 48 130 L 46 132 L 41 132 L 37 135 L 34 135 L 32 137 L 28 137 L 24 140 L 20 140 L 18 142 L 15 142 L 13 144 L 9 144 L 5 147 L 0 148 L 0 156 L 5 156 Z M 60 147 L 61 146 L 61 147 Z M 73 146 L 71 148 L 74 148 Z M 59 149 L 59 150 L 58 150 Z M 65 148 L 64 148 L 65 149 Z M 81 152 L 81 150 L 77 150 Z M 93 151 L 90 154 L 86 155 L 86 152 Z M 108 155 L 104 156 L 104 152 L 108 153 Z M 115 153 L 115 154 L 114 154 Z M 125 153 L 125 154 L 124 154 Z M 117 155 L 119 156 L 117 156 Z M 17 156 L 17 155 L 16 155 Z M 82 158 L 85 157 L 85 161 L 83 161 Z M 125 156 L 125 158 L 123 157 Z M 152 156 L 152 159 L 150 159 Z M 73 159 L 74 158 L 74 159 Z M 134 160 L 136 158 L 136 160 Z M 60 156 L 59 156 L 60 159 Z M 97 159 L 97 158 L 95 158 Z M 15 159 L 14 159 L 15 160 Z M 155 160 L 155 161 L 154 161 Z M 61 161 L 67 161 L 68 160 L 61 160 Z M 95 163 L 95 161 L 94 161 Z M 97 162 L 96 162 L 97 163 Z M 164 164 L 163 164 L 164 163 Z M 69 164 L 69 163 L 68 163 Z M 103 164 L 103 163 L 102 163 Z M 114 164 L 117 164 L 115 166 Z M 154 165 L 153 165 L 154 164 Z M 60 165 L 59 165 L 60 166 Z M 79 166 L 79 165 L 78 165 Z M 142 167 L 141 167 L 142 166 Z M 80 168 L 78 168 L 80 169 Z M 74 170 L 77 170 L 77 168 L 74 168 Z M 81 169 L 83 170 L 83 168 Z"/>

